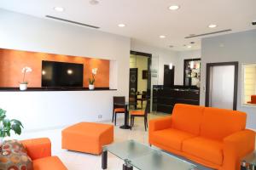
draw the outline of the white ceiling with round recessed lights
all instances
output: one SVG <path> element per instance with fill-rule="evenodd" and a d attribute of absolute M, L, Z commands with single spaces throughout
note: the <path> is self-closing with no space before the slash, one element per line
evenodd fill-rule
<path fill-rule="evenodd" d="M 101 31 L 131 37 L 159 48 L 188 50 L 201 48 L 201 38 L 185 39 L 189 34 L 232 29 L 256 28 L 256 0 L 1 0 L 0 8 L 44 18 L 46 14 L 101 27 Z M 177 4 L 181 8 L 171 11 Z M 65 11 L 56 12 L 54 7 Z M 126 26 L 119 28 L 119 24 Z M 217 24 L 214 29 L 210 24 Z M 165 35 L 165 39 L 160 39 Z M 183 44 L 192 44 L 192 48 Z M 169 48 L 173 45 L 174 48 Z"/>

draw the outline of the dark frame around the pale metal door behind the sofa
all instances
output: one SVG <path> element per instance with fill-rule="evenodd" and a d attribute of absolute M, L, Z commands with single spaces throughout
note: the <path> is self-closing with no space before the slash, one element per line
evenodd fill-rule
<path fill-rule="evenodd" d="M 210 99 L 210 73 L 212 66 L 223 66 L 223 65 L 234 65 L 235 66 L 235 78 L 234 78 L 234 99 L 233 99 L 233 110 L 236 111 L 237 107 L 237 85 L 238 85 L 238 61 L 232 62 L 220 62 L 220 63 L 207 63 L 207 82 L 206 82 L 206 106 L 209 106 Z"/>

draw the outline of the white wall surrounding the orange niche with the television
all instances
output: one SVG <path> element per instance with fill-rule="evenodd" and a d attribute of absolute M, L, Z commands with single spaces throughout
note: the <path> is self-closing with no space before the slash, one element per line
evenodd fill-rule
<path fill-rule="evenodd" d="M 129 93 L 130 38 L 0 9 L 0 48 L 115 60 L 108 92 L 0 92 L 0 107 L 26 130 L 109 120 L 113 95 Z M 113 63 L 111 63 L 112 65 Z M 0 64 L 1 65 L 1 64 Z"/>

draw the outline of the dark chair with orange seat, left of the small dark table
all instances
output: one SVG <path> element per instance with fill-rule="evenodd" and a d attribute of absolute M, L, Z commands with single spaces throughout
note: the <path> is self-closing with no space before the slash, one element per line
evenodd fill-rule
<path fill-rule="evenodd" d="M 116 125 L 116 115 L 119 113 L 125 113 L 125 96 L 113 96 L 113 116 L 114 126 Z"/>

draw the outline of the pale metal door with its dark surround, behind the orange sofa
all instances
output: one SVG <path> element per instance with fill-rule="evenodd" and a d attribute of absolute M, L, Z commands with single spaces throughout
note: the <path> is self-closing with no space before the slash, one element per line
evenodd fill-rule
<path fill-rule="evenodd" d="M 238 62 L 208 63 L 206 106 L 236 111 Z"/>

